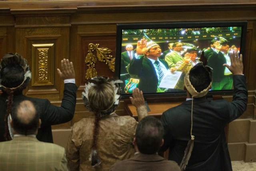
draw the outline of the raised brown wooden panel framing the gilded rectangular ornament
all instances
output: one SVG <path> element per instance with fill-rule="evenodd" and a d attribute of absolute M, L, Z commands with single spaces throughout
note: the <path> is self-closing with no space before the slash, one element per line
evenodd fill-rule
<path fill-rule="evenodd" d="M 69 16 L 22 16 L 16 17 L 16 51 L 26 57 L 32 69 L 32 81 L 26 94 L 32 97 L 61 100 L 64 83 L 57 68 L 63 58 L 69 59 Z M 48 49 L 47 79 L 39 80 L 38 48 Z M 46 50 L 44 49 L 44 50 Z M 42 71 L 42 70 L 41 70 Z"/>

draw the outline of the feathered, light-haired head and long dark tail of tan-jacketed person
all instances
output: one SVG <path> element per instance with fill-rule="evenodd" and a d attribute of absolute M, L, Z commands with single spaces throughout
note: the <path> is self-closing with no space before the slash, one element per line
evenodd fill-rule
<path fill-rule="evenodd" d="M 86 86 L 89 86 L 90 88 L 85 88 L 82 96 L 86 108 L 95 114 L 91 147 L 91 165 L 93 167 L 98 167 L 101 163 L 100 157 L 97 153 L 97 137 L 99 134 L 100 120 L 104 116 L 114 112 L 118 106 L 118 103 L 115 103 L 115 88 L 117 90 L 117 94 L 120 94 L 120 88 L 117 83 L 115 84 L 112 81 L 114 81 L 114 79 L 94 77 L 93 79 L 89 80 L 89 83 Z M 87 95 L 85 94 L 88 94 L 88 99 L 86 98 Z"/>

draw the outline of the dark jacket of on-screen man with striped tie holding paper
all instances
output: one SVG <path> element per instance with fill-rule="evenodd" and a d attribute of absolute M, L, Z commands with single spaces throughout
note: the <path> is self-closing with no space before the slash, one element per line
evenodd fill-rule
<path fill-rule="evenodd" d="M 166 61 L 162 59 L 159 59 L 159 61 L 164 64 L 166 69 L 169 69 Z M 156 70 L 152 62 L 146 56 L 140 59 L 132 59 L 131 63 L 128 65 L 128 72 L 132 75 L 131 77 L 136 75 L 138 79 L 140 79 L 138 88 L 144 93 L 156 92 L 158 86 Z"/>

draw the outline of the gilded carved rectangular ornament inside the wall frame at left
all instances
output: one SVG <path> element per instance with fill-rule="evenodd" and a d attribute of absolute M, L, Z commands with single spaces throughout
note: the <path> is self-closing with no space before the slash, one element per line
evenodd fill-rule
<path fill-rule="evenodd" d="M 48 51 L 38 51 L 38 80 L 48 79 Z"/>

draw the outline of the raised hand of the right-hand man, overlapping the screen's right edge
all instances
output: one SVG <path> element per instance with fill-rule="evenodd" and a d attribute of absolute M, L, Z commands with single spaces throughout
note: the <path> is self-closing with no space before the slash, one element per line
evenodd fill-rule
<path fill-rule="evenodd" d="M 223 66 L 226 66 L 233 73 L 233 75 L 242 75 L 244 69 L 242 54 L 240 54 L 239 57 L 238 53 L 233 51 L 233 53 L 230 53 L 230 61 L 230 66 L 226 63 L 224 63 Z"/>

